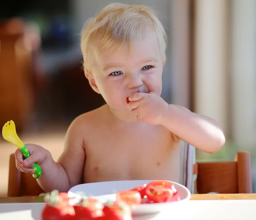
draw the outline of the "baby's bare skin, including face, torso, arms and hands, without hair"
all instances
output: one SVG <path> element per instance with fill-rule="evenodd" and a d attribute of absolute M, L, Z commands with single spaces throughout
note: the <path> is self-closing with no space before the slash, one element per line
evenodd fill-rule
<path fill-rule="evenodd" d="M 37 181 L 44 191 L 68 191 L 82 182 L 111 180 L 178 182 L 181 139 L 209 153 L 224 145 L 217 122 L 160 97 L 165 61 L 156 35 L 134 41 L 130 54 L 121 46 L 115 53 L 99 54 L 96 62 L 91 72 L 85 70 L 85 76 L 107 104 L 73 121 L 58 162 L 38 145 L 26 144 L 31 156 L 24 161 L 20 150 L 16 151 L 21 171 L 32 174 L 33 162 L 41 166 Z"/>

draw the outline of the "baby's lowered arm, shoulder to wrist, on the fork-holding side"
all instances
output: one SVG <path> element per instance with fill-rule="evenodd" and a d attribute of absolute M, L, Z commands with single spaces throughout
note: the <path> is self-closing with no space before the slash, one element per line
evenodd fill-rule
<path fill-rule="evenodd" d="M 52 158 L 44 163 L 42 176 L 37 179 L 44 191 L 68 191 L 74 185 L 81 183 L 84 170 L 85 151 L 82 138 L 82 128 L 79 117 L 67 130 L 65 149 L 58 162 Z"/>

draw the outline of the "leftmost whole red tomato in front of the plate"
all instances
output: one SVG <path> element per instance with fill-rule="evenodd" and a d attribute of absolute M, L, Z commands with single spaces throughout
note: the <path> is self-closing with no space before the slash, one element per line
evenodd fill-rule
<path fill-rule="evenodd" d="M 72 220 L 75 216 L 73 206 L 49 206 L 42 211 L 42 220 Z"/>

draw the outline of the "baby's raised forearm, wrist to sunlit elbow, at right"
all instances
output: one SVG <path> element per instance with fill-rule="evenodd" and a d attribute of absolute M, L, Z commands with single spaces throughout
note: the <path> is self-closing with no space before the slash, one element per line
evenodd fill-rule
<path fill-rule="evenodd" d="M 213 119 L 169 104 L 161 124 L 173 134 L 201 151 L 213 153 L 225 144 L 220 125 Z"/>

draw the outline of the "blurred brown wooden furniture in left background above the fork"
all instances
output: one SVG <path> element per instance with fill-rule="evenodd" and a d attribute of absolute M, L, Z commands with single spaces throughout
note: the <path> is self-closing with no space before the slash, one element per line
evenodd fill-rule
<path fill-rule="evenodd" d="M 15 122 L 17 130 L 31 119 L 36 102 L 38 52 L 41 41 L 36 30 L 23 20 L 12 18 L 0 23 L 0 124 Z"/>

